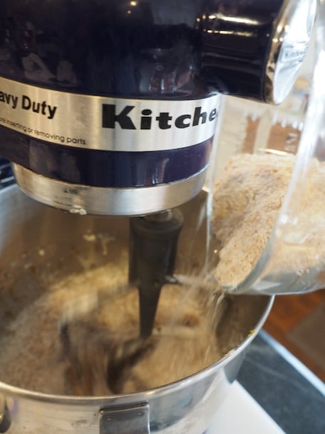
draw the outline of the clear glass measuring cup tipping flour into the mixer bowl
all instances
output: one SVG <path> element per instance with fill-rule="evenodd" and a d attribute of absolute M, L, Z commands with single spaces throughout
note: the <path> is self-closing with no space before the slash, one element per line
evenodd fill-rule
<path fill-rule="evenodd" d="M 283 197 L 279 194 L 277 218 L 274 218 L 272 230 L 267 234 L 268 241 L 264 241 L 264 248 L 260 248 L 257 260 L 249 271 L 241 270 L 238 278 L 229 278 L 229 282 L 227 279 L 219 280 L 229 293 L 304 293 L 325 286 L 325 195 L 322 194 L 325 184 L 324 11 L 324 1 L 321 1 L 314 41 L 311 42 L 296 85 L 282 106 L 264 106 L 229 97 L 223 103 L 223 122 L 215 148 L 215 166 L 210 172 L 209 188 L 212 194 L 216 193 L 215 181 L 218 185 L 231 158 L 237 158 L 235 166 L 232 166 L 235 171 L 245 158 L 255 161 L 254 170 L 272 171 L 273 165 L 274 171 L 277 171 L 282 164 L 287 164 L 284 161 L 289 161 L 291 170 L 285 194 L 282 194 Z M 272 158 L 271 168 L 264 166 L 267 157 Z M 240 176 L 246 175 L 240 173 Z M 239 175 L 230 173 L 229 178 L 236 183 L 238 180 L 234 180 L 234 176 Z M 240 184 L 242 181 L 238 182 Z M 263 191 L 259 191 L 259 194 L 263 195 Z M 272 191 L 266 188 L 264 195 L 269 194 Z M 229 198 L 226 202 L 226 206 L 233 207 L 231 211 L 236 211 L 239 206 L 238 203 L 230 203 Z M 213 203 L 213 199 L 210 201 L 208 213 L 212 221 L 214 213 L 221 216 L 225 214 L 222 206 L 225 203 Z M 252 237 L 249 244 L 252 249 L 255 248 L 254 236 L 264 230 L 266 213 L 269 212 L 265 208 L 258 211 L 258 201 L 255 206 L 255 218 L 258 212 L 259 218 L 256 226 L 246 234 L 248 238 Z M 229 225 L 231 221 L 226 223 Z M 225 246 L 220 246 L 213 224 L 211 227 L 208 236 L 213 239 L 214 246 L 210 248 L 207 274 L 208 279 L 215 281 L 215 269 L 221 263 L 222 248 Z M 236 224 L 231 230 L 233 233 L 237 230 Z M 256 239 L 257 243 L 260 242 Z M 236 257 L 248 258 L 250 252 L 245 250 L 247 243 L 244 241 L 234 244 L 236 248 L 230 251 L 230 261 Z M 220 247 L 215 248 L 215 243 Z M 243 267 L 239 259 L 234 264 L 238 269 Z"/>

